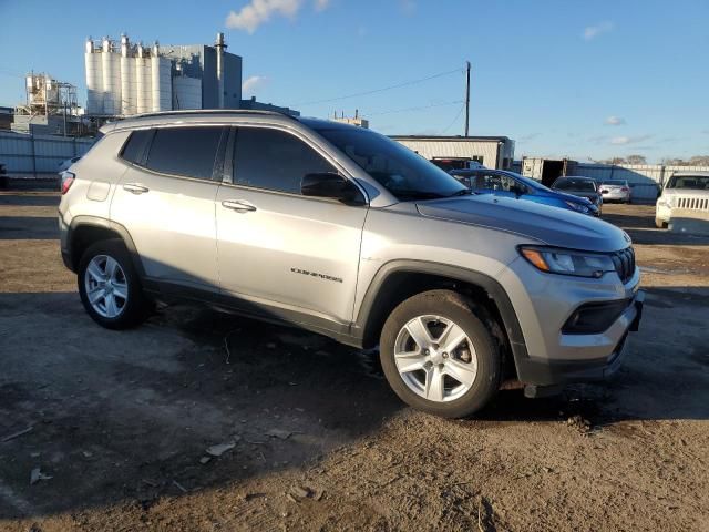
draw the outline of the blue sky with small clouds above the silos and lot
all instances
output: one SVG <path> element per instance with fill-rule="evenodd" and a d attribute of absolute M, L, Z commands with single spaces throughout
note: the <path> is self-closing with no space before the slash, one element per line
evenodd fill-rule
<path fill-rule="evenodd" d="M 469 60 L 471 134 L 516 140 L 517 158 L 709 154 L 707 0 L 0 0 L 0 20 L 3 105 L 32 69 L 83 100 L 88 35 L 191 44 L 224 31 L 245 98 L 305 115 L 357 108 L 387 134 L 461 134 Z"/>

